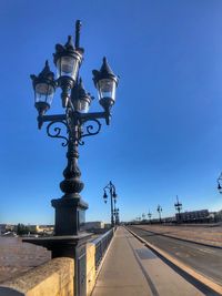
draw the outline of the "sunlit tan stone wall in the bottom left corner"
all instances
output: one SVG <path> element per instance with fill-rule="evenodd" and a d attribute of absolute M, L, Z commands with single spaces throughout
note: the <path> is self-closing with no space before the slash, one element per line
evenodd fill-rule
<path fill-rule="evenodd" d="M 0 296 L 73 296 L 74 262 L 56 258 L 0 286 Z"/>

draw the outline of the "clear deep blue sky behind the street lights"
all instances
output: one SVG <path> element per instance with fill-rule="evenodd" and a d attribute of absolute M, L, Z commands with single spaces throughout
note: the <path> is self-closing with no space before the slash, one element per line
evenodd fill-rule
<path fill-rule="evenodd" d="M 51 198 L 65 149 L 37 129 L 30 74 L 82 20 L 81 76 L 97 96 L 92 69 L 107 55 L 120 75 L 110 126 L 85 139 L 79 165 L 88 221 L 109 221 L 102 188 L 112 180 L 123 221 L 150 210 L 174 215 L 222 208 L 221 0 L 0 1 L 0 223 L 53 223 Z M 61 111 L 60 91 L 49 114 Z M 93 111 L 101 110 L 93 101 Z"/>

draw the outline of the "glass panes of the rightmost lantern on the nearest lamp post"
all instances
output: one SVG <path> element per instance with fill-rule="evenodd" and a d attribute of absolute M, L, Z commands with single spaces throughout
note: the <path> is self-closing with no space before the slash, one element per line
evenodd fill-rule
<path fill-rule="evenodd" d="M 102 79 L 98 82 L 99 99 L 115 100 L 115 81 L 112 79 Z"/>

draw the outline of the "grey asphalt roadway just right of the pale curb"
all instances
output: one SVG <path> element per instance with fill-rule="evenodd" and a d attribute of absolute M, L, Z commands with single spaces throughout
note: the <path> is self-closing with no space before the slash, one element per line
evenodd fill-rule
<path fill-rule="evenodd" d="M 147 242 L 222 285 L 222 249 L 165 237 L 139 227 L 129 226 L 129 228 Z"/>

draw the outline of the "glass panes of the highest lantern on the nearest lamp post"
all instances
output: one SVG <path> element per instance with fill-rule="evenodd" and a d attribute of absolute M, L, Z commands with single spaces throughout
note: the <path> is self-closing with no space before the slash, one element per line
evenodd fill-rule
<path fill-rule="evenodd" d="M 61 57 L 57 62 L 57 76 L 70 76 L 75 81 L 79 70 L 79 60 L 73 57 Z"/>

